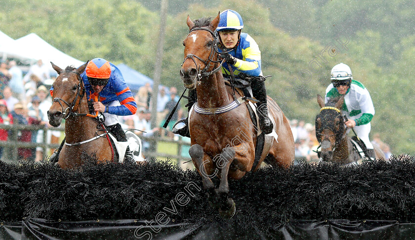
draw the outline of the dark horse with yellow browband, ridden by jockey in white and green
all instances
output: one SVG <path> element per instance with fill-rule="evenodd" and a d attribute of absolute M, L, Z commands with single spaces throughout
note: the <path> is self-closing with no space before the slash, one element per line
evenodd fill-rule
<path fill-rule="evenodd" d="M 357 165 L 363 162 L 359 151 L 354 147 L 352 138 L 347 136 L 345 119 L 341 113 L 344 96 L 325 104 L 323 97 L 317 95 L 321 109 L 316 116 L 316 137 L 321 143 L 318 154 L 322 161 L 340 165 Z M 382 150 L 373 145 L 376 159 L 385 159 Z"/>

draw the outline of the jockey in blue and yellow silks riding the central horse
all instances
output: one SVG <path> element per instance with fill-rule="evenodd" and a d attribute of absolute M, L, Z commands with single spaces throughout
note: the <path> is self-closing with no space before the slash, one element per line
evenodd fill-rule
<path fill-rule="evenodd" d="M 252 78 L 250 86 L 253 97 L 259 101 L 256 108 L 259 116 L 259 126 L 265 134 L 269 134 L 273 130 L 273 124 L 268 118 L 265 78 L 259 77 L 262 76 L 261 51 L 249 34 L 242 33 L 243 28 L 244 22 L 238 12 L 227 9 L 220 13 L 219 24 L 216 28 L 219 35 L 219 53 L 221 53 L 220 57 L 231 65 L 232 72 L 236 77 L 240 73 L 258 77 Z M 222 65 L 222 73 L 227 78 L 231 75 L 228 64 Z M 195 101 L 195 95 L 195 90 L 189 91 L 189 102 Z M 190 111 L 191 104 L 188 104 L 188 106 Z M 185 126 L 181 128 L 173 127 L 173 133 L 189 137 L 187 119 L 179 122 L 184 123 Z"/>

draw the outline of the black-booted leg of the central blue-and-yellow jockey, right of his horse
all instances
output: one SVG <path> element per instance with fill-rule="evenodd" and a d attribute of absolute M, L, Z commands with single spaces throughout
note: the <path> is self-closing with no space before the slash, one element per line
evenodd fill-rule
<path fill-rule="evenodd" d="M 256 112 L 259 116 L 259 127 L 265 134 L 270 134 L 274 128 L 271 120 L 268 118 L 267 107 L 267 90 L 264 81 L 252 81 L 252 95 L 259 103 L 256 103 Z"/>

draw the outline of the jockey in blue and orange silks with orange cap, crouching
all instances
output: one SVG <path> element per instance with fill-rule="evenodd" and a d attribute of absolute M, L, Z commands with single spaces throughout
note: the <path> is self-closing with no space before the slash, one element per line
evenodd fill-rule
<path fill-rule="evenodd" d="M 88 101 L 94 101 L 92 103 L 94 112 L 98 111 L 104 115 L 104 124 L 118 141 L 127 141 L 118 116 L 135 114 L 137 103 L 121 71 L 105 59 L 94 58 L 88 62 L 80 76 L 85 87 L 86 98 Z M 53 88 L 50 93 L 53 94 Z M 95 101 L 95 97 L 98 101 Z M 53 161 L 55 157 L 58 156 L 54 153 L 50 156 L 50 160 Z M 125 157 L 133 158 L 128 147 Z"/>

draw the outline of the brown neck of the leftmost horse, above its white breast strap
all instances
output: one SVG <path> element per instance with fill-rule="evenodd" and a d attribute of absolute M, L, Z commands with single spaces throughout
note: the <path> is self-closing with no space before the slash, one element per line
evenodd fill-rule
<path fill-rule="evenodd" d="M 76 112 L 89 113 L 85 96 L 82 98 L 79 109 Z M 66 141 L 79 142 L 96 136 L 97 125 L 98 123 L 94 119 L 87 116 L 71 116 L 67 118 L 65 123 Z"/>

